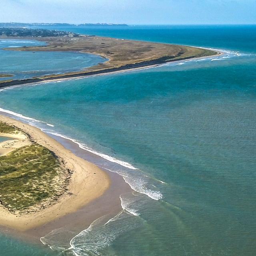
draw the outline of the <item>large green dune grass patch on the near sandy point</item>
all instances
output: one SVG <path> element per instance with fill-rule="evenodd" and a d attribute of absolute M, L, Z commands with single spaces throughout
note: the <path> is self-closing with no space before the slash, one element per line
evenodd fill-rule
<path fill-rule="evenodd" d="M 66 184 L 60 178 L 63 172 L 47 148 L 38 144 L 18 148 L 0 157 L 0 202 L 11 212 L 27 212 L 49 198 L 57 199 Z"/>

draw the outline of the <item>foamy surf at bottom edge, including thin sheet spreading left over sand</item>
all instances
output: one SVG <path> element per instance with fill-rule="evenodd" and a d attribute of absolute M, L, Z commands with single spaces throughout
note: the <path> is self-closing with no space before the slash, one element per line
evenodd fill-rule
<path fill-rule="evenodd" d="M 74 231 L 63 227 L 52 230 L 40 240 L 52 250 L 62 251 L 65 255 L 70 253 L 76 256 L 113 255 L 110 249 L 112 242 L 120 234 L 143 224 L 144 220 L 139 216 L 140 214 L 138 214 L 136 206 L 142 205 L 144 199 L 143 196 L 138 197 L 134 193 L 120 195 L 123 210 L 116 214 L 116 216 L 112 218 L 108 215 L 101 216 L 94 220 L 88 228 L 76 235 Z M 67 234 L 74 234 L 69 244 L 67 241 L 65 244 L 65 239 L 63 239 Z"/>

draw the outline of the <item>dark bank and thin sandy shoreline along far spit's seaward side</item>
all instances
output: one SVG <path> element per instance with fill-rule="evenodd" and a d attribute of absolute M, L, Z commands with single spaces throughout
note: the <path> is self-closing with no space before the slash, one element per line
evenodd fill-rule
<path fill-rule="evenodd" d="M 191 46 L 192 47 L 192 46 Z M 205 48 L 207 49 L 207 48 Z M 213 50 L 212 50 L 213 51 Z M 96 70 L 96 71 L 85 71 L 85 72 L 76 72 L 76 73 L 64 73 L 64 74 L 59 74 L 59 75 L 54 75 L 51 77 L 47 78 L 28 78 L 24 80 L 7 80 L 6 82 L 1 82 L 0 81 L 0 88 L 7 88 L 10 86 L 17 86 L 17 85 L 27 85 L 27 84 L 34 84 L 34 83 L 45 83 L 45 82 L 57 82 L 57 81 L 65 81 L 69 79 L 81 79 L 81 78 L 86 78 L 90 76 L 102 76 L 102 75 L 107 75 L 107 74 L 118 74 L 118 73 L 123 73 L 123 72 L 129 72 L 129 71 L 135 71 L 135 70 L 142 70 L 144 68 L 154 68 L 158 67 L 163 64 L 168 64 L 172 62 L 179 62 L 182 60 L 199 60 L 203 58 L 211 58 L 213 56 L 222 56 L 224 52 L 220 52 L 217 50 L 214 50 L 217 54 L 212 54 L 209 56 L 203 56 L 203 57 L 187 57 L 187 58 L 180 58 L 178 60 L 169 60 L 169 61 L 162 61 L 160 60 L 159 63 L 153 63 L 153 64 L 142 64 L 141 63 L 135 63 L 135 64 L 128 64 L 125 66 L 121 66 L 119 68 L 110 68 L 110 69 L 104 69 L 104 70 Z M 213 51 L 213 52 L 214 52 Z M 98 54 L 100 55 L 100 54 Z M 158 59 L 159 60 L 159 59 Z M 154 61 L 149 61 L 149 62 L 158 62 L 158 60 Z"/>

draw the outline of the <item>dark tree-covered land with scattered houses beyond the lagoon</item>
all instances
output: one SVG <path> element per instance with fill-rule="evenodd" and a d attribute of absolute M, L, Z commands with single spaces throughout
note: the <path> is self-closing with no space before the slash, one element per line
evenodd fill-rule
<path fill-rule="evenodd" d="M 0 36 L 23 36 L 23 37 L 46 37 L 46 36 L 64 36 L 77 37 L 79 34 L 47 29 L 31 28 L 0 28 Z"/>

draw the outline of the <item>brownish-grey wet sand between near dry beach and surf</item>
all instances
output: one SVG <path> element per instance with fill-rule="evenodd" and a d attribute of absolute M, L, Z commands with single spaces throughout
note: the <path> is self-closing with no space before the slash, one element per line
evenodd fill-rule
<path fill-rule="evenodd" d="M 96 162 L 97 159 L 101 159 L 100 156 L 96 156 L 79 148 L 78 144 L 70 140 L 52 134 L 47 134 L 46 136 L 58 140 L 58 143 L 62 144 L 66 150 L 71 151 L 77 157 L 81 158 L 81 160 L 85 159 L 87 161 L 92 160 L 92 162 Z M 106 169 L 101 170 L 108 175 L 110 180 L 108 189 L 106 189 L 101 196 L 84 204 L 84 206 L 76 209 L 76 211 L 70 212 L 64 216 L 56 216 L 54 220 L 50 220 L 45 224 L 27 230 L 15 230 L 6 226 L 0 226 L 0 230 L 21 240 L 28 240 L 36 244 L 42 244 L 42 242 L 40 242 L 41 237 L 46 236 L 52 232 L 52 230 L 57 230 L 56 233 L 59 234 L 62 243 L 68 244 L 76 234 L 88 228 L 94 220 L 102 216 L 105 216 L 106 220 L 113 218 L 122 211 L 120 195 L 131 192 L 132 189 L 124 182 L 122 176 Z M 67 207 L 69 206 L 67 205 Z M 55 236 L 58 236 L 58 234 L 55 234 Z"/>

